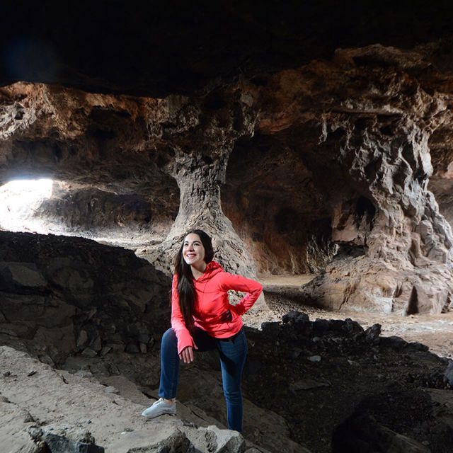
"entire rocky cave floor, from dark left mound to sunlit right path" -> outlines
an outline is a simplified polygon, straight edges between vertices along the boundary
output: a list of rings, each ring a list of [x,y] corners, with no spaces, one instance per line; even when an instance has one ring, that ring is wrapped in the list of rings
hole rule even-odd
[[[215,352],[183,365],[178,415],[147,422],[140,413],[157,397],[169,278],[132,251],[87,239],[1,237],[8,453],[84,451],[87,442],[87,452],[119,453],[451,451],[452,313],[322,311],[300,303],[312,275],[260,276],[268,309],[243,317],[243,437],[219,431]]]

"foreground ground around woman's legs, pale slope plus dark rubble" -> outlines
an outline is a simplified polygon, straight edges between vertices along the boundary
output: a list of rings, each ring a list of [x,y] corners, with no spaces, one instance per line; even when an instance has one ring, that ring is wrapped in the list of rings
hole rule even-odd
[[[450,451],[447,360],[425,345],[380,336],[377,325],[364,331],[355,321],[310,321],[297,312],[247,333],[247,444],[229,431],[207,428],[225,423],[214,353],[183,366],[176,417],[140,417],[156,397],[158,346],[146,355],[74,355],[65,370],[3,347],[1,437],[13,440],[11,452],[44,452],[35,445],[52,434],[78,441],[94,437],[106,451],[130,453],[186,452],[190,445],[202,452]],[[217,449],[203,443],[216,436]],[[28,449],[16,448],[22,445]]]

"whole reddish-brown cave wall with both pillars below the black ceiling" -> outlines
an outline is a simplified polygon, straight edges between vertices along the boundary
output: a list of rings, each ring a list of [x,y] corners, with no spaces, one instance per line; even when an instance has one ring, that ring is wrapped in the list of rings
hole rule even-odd
[[[322,270],[309,303],[440,312],[452,232],[428,182],[448,200],[447,73],[439,41],[338,49],[191,97],[18,83],[1,88],[0,180],[63,181],[43,214],[75,201],[71,231],[149,234],[137,254],[168,274],[198,227],[232,272]]]

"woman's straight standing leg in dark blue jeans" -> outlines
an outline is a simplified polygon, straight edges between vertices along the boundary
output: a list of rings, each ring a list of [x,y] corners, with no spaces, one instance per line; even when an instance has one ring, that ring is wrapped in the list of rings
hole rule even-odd
[[[228,428],[241,432],[243,417],[241,380],[247,357],[247,339],[243,329],[234,340],[218,340],[218,348]]]

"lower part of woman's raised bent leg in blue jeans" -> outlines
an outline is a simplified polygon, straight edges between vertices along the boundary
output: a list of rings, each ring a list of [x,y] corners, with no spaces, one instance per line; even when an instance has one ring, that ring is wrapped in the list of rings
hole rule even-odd
[[[161,343],[161,384],[159,396],[161,398],[176,398],[179,377],[178,339],[172,328],[169,328]]]

